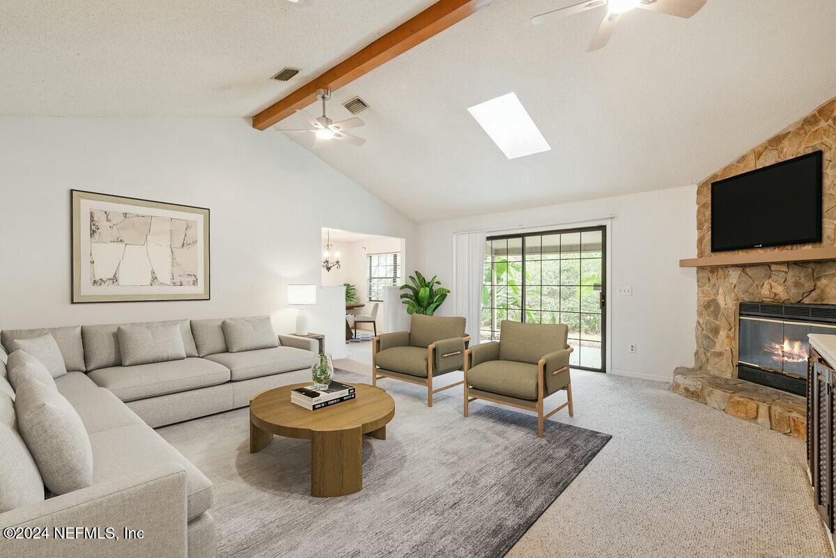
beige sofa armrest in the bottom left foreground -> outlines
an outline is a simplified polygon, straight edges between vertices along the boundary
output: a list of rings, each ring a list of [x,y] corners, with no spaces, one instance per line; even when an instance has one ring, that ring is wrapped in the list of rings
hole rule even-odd
[[[29,534],[49,535],[34,540],[4,538],[0,556],[185,558],[187,520],[186,470],[171,463],[155,471],[125,475],[0,514],[0,528],[28,528]],[[80,530],[76,531],[76,527]],[[84,528],[88,529],[86,535]],[[109,529],[119,540],[107,538]],[[142,538],[126,538],[125,529],[141,530]],[[75,538],[56,538],[56,531]]]

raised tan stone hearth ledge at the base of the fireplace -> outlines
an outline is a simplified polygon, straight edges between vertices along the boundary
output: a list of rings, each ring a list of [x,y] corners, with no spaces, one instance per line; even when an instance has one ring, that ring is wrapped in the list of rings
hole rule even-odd
[[[733,417],[807,439],[807,401],[799,395],[693,368],[676,368],[673,389]]]

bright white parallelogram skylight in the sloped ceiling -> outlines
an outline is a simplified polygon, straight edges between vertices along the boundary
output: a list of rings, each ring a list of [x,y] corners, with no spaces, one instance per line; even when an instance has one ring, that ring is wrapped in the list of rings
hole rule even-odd
[[[513,92],[467,110],[508,159],[552,149]]]

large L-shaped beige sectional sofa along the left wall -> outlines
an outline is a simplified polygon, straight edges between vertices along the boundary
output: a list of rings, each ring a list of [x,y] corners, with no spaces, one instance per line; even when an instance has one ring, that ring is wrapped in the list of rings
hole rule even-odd
[[[145,533],[119,541],[0,538],[0,556],[215,555],[212,483],[153,428],[245,407],[255,393],[287,383],[282,373],[310,367],[316,342],[278,336],[277,347],[230,352],[223,320],[146,325],[160,323],[177,323],[186,358],[122,366],[119,324],[0,332],[8,352],[15,339],[52,334],[67,369],[54,382],[93,451],[92,485],[0,513],[0,528],[100,525]],[[6,358],[0,351],[0,429],[14,436]]]

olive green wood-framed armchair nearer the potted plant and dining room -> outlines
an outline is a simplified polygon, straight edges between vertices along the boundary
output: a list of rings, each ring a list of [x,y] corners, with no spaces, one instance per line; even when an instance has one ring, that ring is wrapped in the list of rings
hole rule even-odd
[[[433,379],[461,370],[470,342],[465,318],[412,315],[408,332],[383,333],[371,343],[371,384],[392,378],[426,386],[426,406],[432,394],[455,388],[462,382],[432,388]]]

